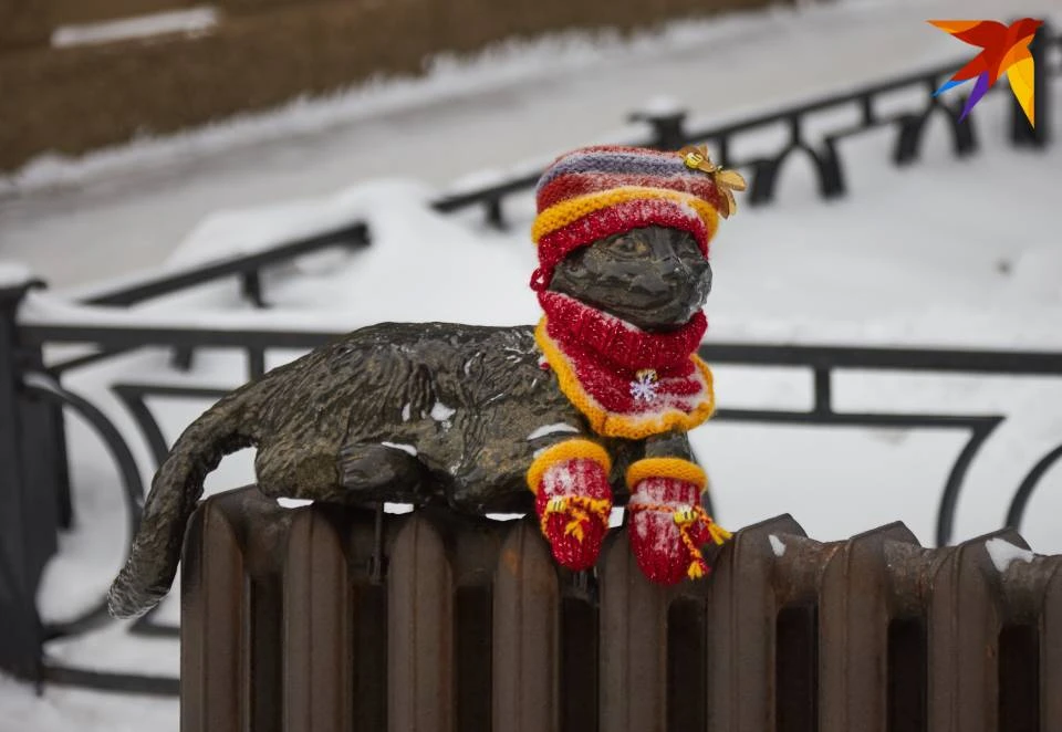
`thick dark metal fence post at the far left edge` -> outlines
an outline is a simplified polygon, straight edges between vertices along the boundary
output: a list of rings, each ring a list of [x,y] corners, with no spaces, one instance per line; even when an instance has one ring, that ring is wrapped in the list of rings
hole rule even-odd
[[[35,536],[41,529],[40,502],[27,490],[31,487],[23,464],[23,354],[15,325],[19,305],[33,285],[21,274],[0,281],[0,668],[39,682],[41,623],[34,598],[48,557],[40,556]],[[50,516],[52,526],[55,517]]]

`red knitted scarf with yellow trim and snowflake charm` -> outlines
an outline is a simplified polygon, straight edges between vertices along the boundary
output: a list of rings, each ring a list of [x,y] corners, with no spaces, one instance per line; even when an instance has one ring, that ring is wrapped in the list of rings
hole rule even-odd
[[[693,429],[715,408],[711,372],[697,355],[704,313],[648,333],[568,295],[542,291],[535,341],[561,391],[598,435],[637,440]]]

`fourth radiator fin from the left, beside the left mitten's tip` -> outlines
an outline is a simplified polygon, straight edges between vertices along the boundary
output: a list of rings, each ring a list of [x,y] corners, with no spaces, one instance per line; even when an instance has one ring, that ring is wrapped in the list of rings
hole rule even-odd
[[[561,593],[533,524],[521,521],[501,547],[493,610],[493,729],[558,732]]]

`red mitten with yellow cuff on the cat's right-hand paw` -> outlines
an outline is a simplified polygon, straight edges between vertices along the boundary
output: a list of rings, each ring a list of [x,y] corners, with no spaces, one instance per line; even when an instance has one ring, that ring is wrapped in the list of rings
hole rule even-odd
[[[646,458],[627,470],[631,547],[643,574],[660,585],[708,574],[700,547],[730,533],[700,505],[705,471],[677,458]]]

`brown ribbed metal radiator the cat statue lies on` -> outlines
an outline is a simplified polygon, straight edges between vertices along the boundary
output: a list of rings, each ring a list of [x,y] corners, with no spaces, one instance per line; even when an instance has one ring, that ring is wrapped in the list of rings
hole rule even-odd
[[[625,530],[559,571],[532,521],[208,499],[185,545],[181,729],[1062,729],[1062,556],[903,524],[745,529],[662,589]]]

